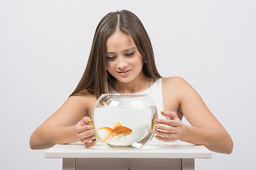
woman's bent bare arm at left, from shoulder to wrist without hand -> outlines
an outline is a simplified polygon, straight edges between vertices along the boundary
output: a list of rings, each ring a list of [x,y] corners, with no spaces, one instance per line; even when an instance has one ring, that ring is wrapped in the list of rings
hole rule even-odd
[[[88,115],[88,106],[93,102],[95,98],[92,96],[70,96],[58,111],[33,132],[30,139],[31,149],[46,149],[55,144],[80,141],[75,132],[75,125]]]

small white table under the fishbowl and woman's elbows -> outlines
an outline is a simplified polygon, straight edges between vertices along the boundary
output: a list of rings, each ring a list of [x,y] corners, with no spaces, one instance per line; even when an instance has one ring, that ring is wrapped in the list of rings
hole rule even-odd
[[[46,158],[62,158],[63,170],[151,170],[195,169],[195,159],[209,159],[204,146],[184,142],[150,142],[140,149],[110,149],[97,143],[85,148],[82,143],[55,145]]]

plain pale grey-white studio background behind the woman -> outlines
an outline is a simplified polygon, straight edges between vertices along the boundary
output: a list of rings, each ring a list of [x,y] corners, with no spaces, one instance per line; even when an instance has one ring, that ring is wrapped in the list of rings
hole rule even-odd
[[[255,1],[0,1],[0,169],[61,169],[29,137],[73,92],[110,11],[144,23],[164,77],[186,79],[233,137],[233,153],[196,169],[256,166]]]

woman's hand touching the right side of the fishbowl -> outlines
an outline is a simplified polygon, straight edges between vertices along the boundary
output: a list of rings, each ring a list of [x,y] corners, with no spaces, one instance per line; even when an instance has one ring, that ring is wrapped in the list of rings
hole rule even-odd
[[[156,139],[162,141],[176,141],[181,138],[183,132],[183,123],[175,112],[161,111],[166,119],[156,120]]]

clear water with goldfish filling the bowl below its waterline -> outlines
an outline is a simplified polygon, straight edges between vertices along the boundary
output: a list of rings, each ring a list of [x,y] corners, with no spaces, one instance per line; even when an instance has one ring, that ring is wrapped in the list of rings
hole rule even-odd
[[[154,136],[155,106],[95,107],[93,126],[97,140],[107,147],[143,147]]]

